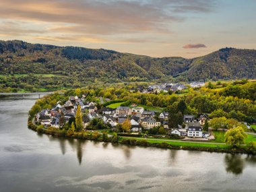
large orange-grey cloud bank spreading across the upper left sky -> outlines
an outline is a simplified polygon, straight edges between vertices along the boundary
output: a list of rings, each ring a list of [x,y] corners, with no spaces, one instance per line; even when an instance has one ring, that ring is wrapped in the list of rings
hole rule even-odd
[[[177,12],[207,12],[214,8],[212,2],[0,0],[0,17],[57,24],[59,32],[102,35],[168,33],[170,24],[185,20],[185,15]]]

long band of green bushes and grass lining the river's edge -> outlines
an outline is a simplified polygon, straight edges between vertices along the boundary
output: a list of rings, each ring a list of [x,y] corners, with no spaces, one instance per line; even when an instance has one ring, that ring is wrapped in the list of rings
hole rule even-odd
[[[121,137],[117,135],[117,133],[114,133],[113,135],[108,135],[108,133],[106,132],[100,133],[98,131],[76,132],[70,129],[66,131],[65,129],[61,130],[55,127],[45,128],[33,123],[33,119],[31,118],[28,119],[28,128],[34,131],[37,131],[38,133],[52,135],[53,137],[67,137],[67,138],[75,138],[75,139],[103,141],[103,142],[110,142],[110,143],[121,143],[127,146],[155,147],[155,148],[165,148],[170,150],[195,150],[195,151],[203,151],[203,152],[222,152],[222,153],[224,152],[224,153],[230,153],[230,154],[256,154],[256,150],[254,146],[238,146],[236,148],[232,148],[232,146],[228,146],[228,145],[220,145],[220,146],[212,145],[211,146],[211,144],[209,144],[209,146],[205,146],[205,145],[193,146],[193,143],[191,143],[191,146],[189,146],[188,141],[183,142],[183,143],[186,143],[185,145],[177,144],[177,143],[171,144],[166,140],[160,141],[159,139],[154,140],[154,139]]]

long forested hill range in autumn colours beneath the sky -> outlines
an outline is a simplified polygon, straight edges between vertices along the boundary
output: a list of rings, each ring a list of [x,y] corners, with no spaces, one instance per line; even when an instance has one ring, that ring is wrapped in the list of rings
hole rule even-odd
[[[95,81],[172,78],[183,81],[255,79],[256,51],[226,48],[195,59],[152,58],[105,49],[0,41],[0,78],[1,84],[10,87],[81,86]]]

